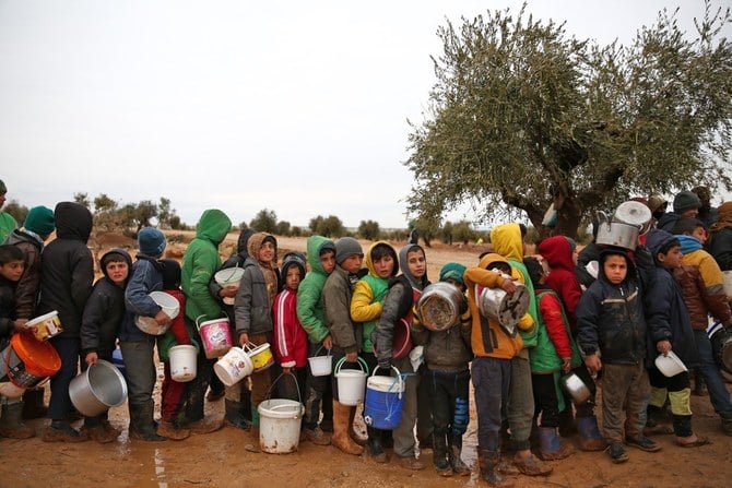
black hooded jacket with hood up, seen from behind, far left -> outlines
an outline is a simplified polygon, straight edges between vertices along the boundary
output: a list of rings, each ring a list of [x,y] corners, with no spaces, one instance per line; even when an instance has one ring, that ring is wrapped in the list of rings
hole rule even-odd
[[[94,258],[86,247],[92,234],[92,213],[74,202],[61,202],[54,211],[56,239],[40,254],[40,301],[37,314],[59,313],[59,337],[79,337],[84,307],[94,284]]]

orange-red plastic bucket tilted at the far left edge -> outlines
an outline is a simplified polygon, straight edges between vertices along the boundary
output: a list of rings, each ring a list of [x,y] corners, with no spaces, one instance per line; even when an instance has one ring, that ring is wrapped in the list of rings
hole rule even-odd
[[[33,388],[61,369],[61,357],[47,342],[36,341],[29,332],[13,334],[2,352],[0,381]]]

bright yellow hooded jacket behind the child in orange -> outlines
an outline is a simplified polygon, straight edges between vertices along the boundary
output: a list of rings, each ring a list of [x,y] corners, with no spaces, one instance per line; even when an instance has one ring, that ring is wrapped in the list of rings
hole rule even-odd
[[[511,269],[519,271],[518,281],[529,288],[529,316],[533,319],[534,326],[520,329],[523,347],[533,347],[536,345],[536,321],[539,319],[536,310],[536,297],[534,287],[531,284],[529,271],[523,265],[523,240],[521,238],[521,228],[518,224],[503,224],[491,230],[491,243],[497,254],[510,264]]]

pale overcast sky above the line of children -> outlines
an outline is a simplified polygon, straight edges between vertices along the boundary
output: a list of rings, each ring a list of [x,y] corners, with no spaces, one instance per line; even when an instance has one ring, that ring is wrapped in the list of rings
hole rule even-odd
[[[170,199],[194,224],[270,209],[405,227],[408,119],[435,82],[436,31],[521,1],[0,0],[0,179],[9,200]],[[729,4],[729,2],[718,2]],[[568,34],[629,44],[664,7],[533,1]],[[453,219],[468,217],[460,212]]]

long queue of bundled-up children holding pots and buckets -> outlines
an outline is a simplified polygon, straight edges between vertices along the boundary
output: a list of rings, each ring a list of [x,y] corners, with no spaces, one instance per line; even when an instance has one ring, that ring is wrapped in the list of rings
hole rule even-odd
[[[536,255],[526,255],[526,227],[495,227],[491,252],[440,270],[439,281],[461,297],[459,313],[444,330],[426,328],[420,314],[430,282],[425,249],[415,241],[399,250],[376,241],[364,252],[352,237],[333,242],[310,236],[306,254],[286,253],[278,265],[275,237],[245,229],[237,253],[222,263],[217,249],[232,222],[219,210],[206,210],[181,263],[163,259],[165,235],[145,227],[134,260],[123,249],[106,252],[94,283],[88,210],[72,202],[55,211],[34,207],[0,245],[0,350],[29,319],[58,311],[63,332],[49,341],[61,367],[50,380],[50,421],[43,433],[49,442],[92,438],[106,443],[120,435],[106,414],[72,427],[78,414],[69,395],[80,368],[111,361],[119,346],[129,435],[142,441],[182,440],[221,428],[221,421],[203,415],[209,388],[225,396],[228,426],[258,428],[257,407],[276,391],[305,405],[303,438],[314,444],[365,453],[377,463],[389,462],[391,451],[406,469],[424,469],[421,454],[432,449],[438,475],[465,476],[471,469],[461,456],[462,437],[472,381],[479,469],[492,486],[505,485],[510,474],[550,474],[547,461],[572,454],[567,438],[575,431],[579,449],[606,450],[613,463],[628,459],[627,445],[660,450],[652,439],[658,433],[674,435],[680,447],[705,445],[708,439],[692,427],[689,372],[665,377],[653,359],[675,353],[695,382],[707,385],[722,430],[732,435],[730,394],[706,332],[710,317],[732,326],[722,276],[732,261],[732,203],[720,205],[705,224],[697,218],[704,205],[695,192],[681,192],[668,214],[659,209],[663,199],[648,202],[659,228],[634,250],[591,243],[578,257],[572,239],[553,236],[539,242]],[[45,246],[54,230],[56,238]],[[594,271],[587,265],[591,261]],[[238,285],[220,285],[215,273],[232,267],[243,269]],[[511,295],[519,286],[528,288],[529,306],[516,323],[482,311],[482,288]],[[175,319],[151,298],[156,290],[178,300],[181,312]],[[229,319],[235,344],[269,343],[276,362],[225,390],[215,381],[215,359],[205,356],[197,326],[222,317]],[[140,318],[167,331],[146,333],[137,324]],[[170,377],[169,350],[176,345],[198,350],[191,382]],[[154,418],[155,354],[164,362],[160,421]],[[358,433],[357,408],[340,401],[335,377],[315,376],[308,365],[308,357],[327,354],[345,369],[399,371],[404,391],[394,429],[366,420],[367,437]],[[572,373],[588,389],[577,403],[559,388]],[[594,412],[600,383],[601,425]],[[23,398],[36,403],[37,391],[0,390],[0,436],[32,437],[22,421]],[[43,402],[43,389],[40,395]],[[428,425],[428,438],[415,435],[418,421]],[[503,456],[507,451],[513,452],[510,460]]]

